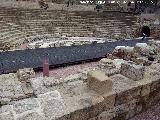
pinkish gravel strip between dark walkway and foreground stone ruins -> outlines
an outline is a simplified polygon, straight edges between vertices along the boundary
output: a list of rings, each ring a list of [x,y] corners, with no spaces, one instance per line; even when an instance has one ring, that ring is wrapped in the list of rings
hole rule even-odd
[[[72,65],[68,67],[61,67],[57,69],[51,69],[49,74],[50,76],[53,76],[55,78],[65,78],[71,74],[78,73],[79,70],[88,68],[88,67],[94,67],[98,64],[98,62],[91,62],[91,63],[85,63],[85,64],[79,64],[79,65]],[[36,76],[43,76],[43,72],[37,72]]]

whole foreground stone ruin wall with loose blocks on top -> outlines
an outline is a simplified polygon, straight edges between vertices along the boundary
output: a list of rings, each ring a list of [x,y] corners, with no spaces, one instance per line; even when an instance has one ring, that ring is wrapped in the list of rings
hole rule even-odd
[[[160,100],[159,45],[116,47],[64,79],[35,77],[30,68],[0,75],[0,120],[127,120]]]

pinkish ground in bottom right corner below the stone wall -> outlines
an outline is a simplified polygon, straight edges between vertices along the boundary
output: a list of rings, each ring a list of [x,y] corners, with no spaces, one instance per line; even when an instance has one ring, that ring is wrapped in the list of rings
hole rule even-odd
[[[160,102],[130,120],[160,120]]]

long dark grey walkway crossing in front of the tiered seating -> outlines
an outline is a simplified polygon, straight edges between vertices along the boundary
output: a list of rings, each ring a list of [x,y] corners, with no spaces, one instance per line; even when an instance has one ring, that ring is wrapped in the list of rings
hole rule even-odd
[[[0,74],[17,71],[20,68],[41,68],[45,58],[49,59],[50,65],[102,58],[107,53],[111,53],[116,46],[134,46],[138,42],[146,41],[124,40],[102,44],[1,52]]]

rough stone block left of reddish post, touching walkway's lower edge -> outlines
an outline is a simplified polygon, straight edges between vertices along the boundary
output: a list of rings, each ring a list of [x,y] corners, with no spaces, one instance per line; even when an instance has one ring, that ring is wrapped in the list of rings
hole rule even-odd
[[[17,71],[17,77],[20,81],[28,81],[29,78],[32,78],[34,76],[35,72],[33,68],[19,69]]]

